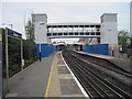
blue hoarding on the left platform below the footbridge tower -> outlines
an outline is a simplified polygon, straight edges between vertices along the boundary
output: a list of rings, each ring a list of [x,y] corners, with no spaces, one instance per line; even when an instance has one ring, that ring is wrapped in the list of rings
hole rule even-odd
[[[40,48],[41,48],[42,57],[48,57],[56,51],[56,46],[54,46],[53,44],[36,44],[36,47],[37,47],[37,56],[40,56]]]

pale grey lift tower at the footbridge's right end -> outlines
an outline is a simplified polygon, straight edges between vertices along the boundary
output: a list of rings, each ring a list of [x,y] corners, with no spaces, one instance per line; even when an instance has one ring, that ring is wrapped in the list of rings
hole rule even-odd
[[[101,15],[101,44],[118,44],[117,13]]]

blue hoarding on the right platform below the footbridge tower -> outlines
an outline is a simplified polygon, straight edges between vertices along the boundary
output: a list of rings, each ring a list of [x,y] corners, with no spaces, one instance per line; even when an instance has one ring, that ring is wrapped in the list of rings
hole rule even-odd
[[[97,44],[97,45],[84,45],[84,52],[92,54],[109,55],[108,44]]]

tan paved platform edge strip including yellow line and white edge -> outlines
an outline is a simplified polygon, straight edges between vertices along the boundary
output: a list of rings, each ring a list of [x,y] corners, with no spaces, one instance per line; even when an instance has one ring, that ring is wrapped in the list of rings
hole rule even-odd
[[[54,57],[45,97],[85,97],[82,87],[67,67],[61,52]]]

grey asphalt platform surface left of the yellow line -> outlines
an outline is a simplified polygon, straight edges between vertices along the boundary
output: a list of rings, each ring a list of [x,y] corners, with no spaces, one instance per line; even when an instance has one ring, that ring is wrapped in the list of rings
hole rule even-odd
[[[54,55],[35,62],[10,78],[7,97],[44,97]]]

